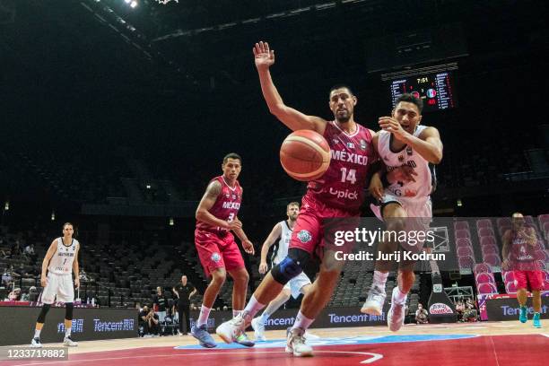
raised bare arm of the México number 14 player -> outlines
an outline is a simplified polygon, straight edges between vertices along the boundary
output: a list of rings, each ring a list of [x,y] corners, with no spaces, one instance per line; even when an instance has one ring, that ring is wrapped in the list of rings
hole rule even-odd
[[[274,65],[274,50],[267,42],[260,41],[253,48],[261,92],[266,100],[269,111],[292,131],[309,129],[324,134],[326,120],[319,117],[307,116],[299,110],[286,106],[282,97],[274,86],[269,67]]]

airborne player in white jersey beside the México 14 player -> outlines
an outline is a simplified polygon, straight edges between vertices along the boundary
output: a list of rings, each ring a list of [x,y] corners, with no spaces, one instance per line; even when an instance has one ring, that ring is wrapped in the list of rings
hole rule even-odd
[[[370,193],[381,202],[380,215],[387,222],[388,231],[426,231],[431,222],[432,179],[429,164],[442,159],[442,142],[435,127],[420,126],[423,101],[412,94],[396,100],[391,117],[379,118],[381,130],[373,144],[385,173],[376,172],[370,181]],[[403,220],[404,219],[404,220]],[[414,244],[414,245],[412,245]],[[423,241],[379,243],[379,252],[403,250],[419,252]],[[377,257],[377,256],[376,256]],[[379,315],[385,302],[385,283],[392,261],[376,261],[374,279],[361,311]],[[414,261],[398,263],[398,286],[393,289],[388,327],[397,331],[404,324],[405,301],[414,283]]]

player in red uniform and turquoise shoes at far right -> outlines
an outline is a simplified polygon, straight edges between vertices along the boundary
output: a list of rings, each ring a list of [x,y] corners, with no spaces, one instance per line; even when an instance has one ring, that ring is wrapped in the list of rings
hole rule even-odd
[[[544,290],[544,274],[536,261],[536,231],[524,224],[522,213],[513,213],[512,228],[503,234],[501,255],[503,269],[513,271],[517,281],[517,300],[520,305],[518,320],[526,323],[527,289],[530,283],[532,304],[534,305],[534,327],[541,327],[541,292]]]

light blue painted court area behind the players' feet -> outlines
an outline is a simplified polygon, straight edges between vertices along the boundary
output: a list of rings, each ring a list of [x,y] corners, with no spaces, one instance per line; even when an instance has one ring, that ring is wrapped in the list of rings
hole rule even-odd
[[[315,345],[348,345],[348,344],[391,344],[404,342],[426,342],[426,341],[449,341],[455,339],[474,338],[477,335],[383,335],[383,336],[350,336],[350,337],[326,337],[319,339],[311,339],[307,343]],[[285,339],[274,339],[266,342],[257,342],[253,348],[276,348],[284,347]],[[204,350],[205,348],[198,345],[179,345],[174,347],[179,350]],[[217,347],[212,350],[226,350],[248,348],[240,344],[225,344],[218,343]]]

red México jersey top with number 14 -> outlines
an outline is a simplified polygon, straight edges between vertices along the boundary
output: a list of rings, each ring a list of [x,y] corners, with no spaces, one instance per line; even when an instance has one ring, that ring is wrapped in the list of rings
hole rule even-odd
[[[335,121],[327,123],[324,138],[330,146],[331,161],[322,177],[309,182],[307,195],[323,204],[345,211],[358,211],[364,200],[366,176],[377,153],[370,130],[356,124],[349,135]]]

